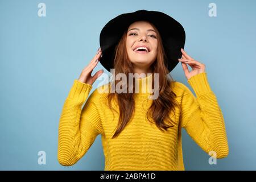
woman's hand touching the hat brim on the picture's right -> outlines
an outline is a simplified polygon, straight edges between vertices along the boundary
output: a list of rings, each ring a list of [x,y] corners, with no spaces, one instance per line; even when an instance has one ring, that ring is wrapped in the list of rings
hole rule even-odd
[[[178,60],[181,61],[182,68],[188,80],[192,76],[205,72],[205,65],[203,63],[200,63],[199,61],[194,60],[191,56],[189,56],[184,51],[183,48],[181,48],[181,52],[182,52],[183,59],[178,59]],[[192,68],[191,72],[189,72],[187,64]]]

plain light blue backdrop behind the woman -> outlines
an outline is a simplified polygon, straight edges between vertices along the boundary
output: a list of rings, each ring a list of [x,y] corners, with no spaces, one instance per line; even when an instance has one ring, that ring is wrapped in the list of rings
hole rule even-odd
[[[38,16],[40,2],[46,3],[46,17]],[[217,5],[216,17],[208,15],[211,2]],[[100,47],[102,27],[119,14],[140,9],[162,11],[183,25],[184,49],[206,65],[209,84],[224,114],[228,157],[210,165],[209,156],[183,130],[185,169],[256,169],[253,0],[1,0],[0,169],[104,170],[100,135],[75,166],[58,163],[59,118],[73,81]],[[104,69],[101,64],[92,74],[99,69]],[[181,64],[171,76],[189,86]],[[99,82],[94,82],[92,91]],[[38,164],[39,151],[46,152],[46,165]]]

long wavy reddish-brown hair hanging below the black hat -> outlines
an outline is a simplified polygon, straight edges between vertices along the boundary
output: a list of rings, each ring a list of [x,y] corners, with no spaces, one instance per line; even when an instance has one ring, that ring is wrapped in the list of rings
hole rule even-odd
[[[150,22],[149,22],[150,23]],[[174,111],[175,114],[175,106],[177,106],[180,110],[180,105],[176,102],[175,97],[176,94],[172,91],[172,85],[174,84],[173,78],[170,76],[168,78],[168,69],[166,67],[166,53],[164,52],[162,39],[160,37],[159,31],[156,29],[154,24],[150,23],[156,30],[156,34],[158,37],[158,48],[157,48],[157,56],[154,63],[151,64],[152,71],[152,80],[154,80],[154,73],[159,74],[159,96],[157,99],[153,100],[152,105],[147,111],[147,119],[148,115],[154,120],[155,125],[162,131],[166,131],[169,127],[173,127],[175,121],[169,117],[171,111]],[[133,73],[133,65],[129,60],[126,50],[126,36],[127,30],[123,33],[122,38],[119,40],[119,43],[115,47],[115,57],[114,57],[114,70],[115,73],[124,73],[127,77],[129,73]],[[114,79],[115,80],[115,79]],[[114,81],[115,86],[118,84],[118,81]],[[154,81],[152,82],[154,86]],[[116,88],[116,87],[115,87]],[[128,89],[129,88],[128,86]],[[134,86],[133,86],[134,91]],[[134,114],[135,101],[134,101],[134,93],[108,93],[108,105],[110,109],[115,110],[111,106],[111,101],[113,98],[116,98],[118,107],[119,107],[119,121],[117,125],[117,130],[115,131],[112,138],[117,137],[121,131],[125,128],[126,124],[130,121],[132,115]],[[115,110],[116,111],[116,110]],[[148,119],[150,122],[151,120]],[[168,125],[166,122],[170,123]]]

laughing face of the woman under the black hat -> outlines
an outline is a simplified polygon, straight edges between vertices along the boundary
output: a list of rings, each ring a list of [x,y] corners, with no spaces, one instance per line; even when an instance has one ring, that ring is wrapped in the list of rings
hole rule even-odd
[[[147,50],[136,49],[146,47]],[[149,68],[157,55],[158,39],[150,23],[138,21],[130,24],[127,31],[126,50],[135,67]]]

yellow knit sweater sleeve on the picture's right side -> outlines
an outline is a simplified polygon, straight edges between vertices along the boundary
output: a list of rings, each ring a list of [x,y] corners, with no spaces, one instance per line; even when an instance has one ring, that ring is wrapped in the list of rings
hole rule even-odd
[[[229,147],[224,118],[217,98],[209,86],[207,73],[192,76],[188,83],[196,97],[183,84],[181,127],[207,154],[213,151],[216,152],[216,158],[225,158],[229,154]]]

